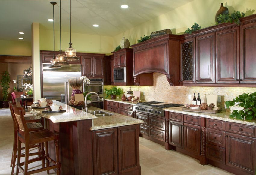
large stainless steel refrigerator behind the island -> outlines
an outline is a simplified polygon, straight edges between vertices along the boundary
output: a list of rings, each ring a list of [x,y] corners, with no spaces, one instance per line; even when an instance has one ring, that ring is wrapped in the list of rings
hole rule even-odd
[[[61,68],[49,68],[48,65],[43,63],[43,97],[68,103],[72,94],[68,80],[81,77],[81,65],[62,65]]]

